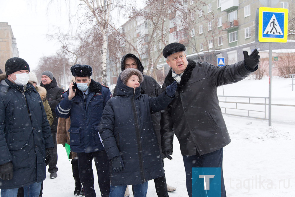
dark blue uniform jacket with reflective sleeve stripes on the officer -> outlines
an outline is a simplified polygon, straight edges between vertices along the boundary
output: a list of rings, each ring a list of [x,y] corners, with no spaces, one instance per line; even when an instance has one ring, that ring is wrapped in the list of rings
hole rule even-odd
[[[60,118],[71,116],[71,151],[90,153],[104,150],[98,132],[104,106],[113,96],[109,88],[91,79],[86,108],[81,90],[76,88],[72,100],[68,99],[68,94],[69,90],[63,93],[64,99],[56,106],[55,113]]]

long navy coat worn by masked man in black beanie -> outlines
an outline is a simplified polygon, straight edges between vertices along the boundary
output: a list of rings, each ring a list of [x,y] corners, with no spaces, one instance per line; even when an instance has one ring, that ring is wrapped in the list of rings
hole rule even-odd
[[[42,100],[34,86],[23,87],[0,76],[0,165],[12,162],[13,178],[1,189],[19,188],[45,179],[45,148],[53,140]]]

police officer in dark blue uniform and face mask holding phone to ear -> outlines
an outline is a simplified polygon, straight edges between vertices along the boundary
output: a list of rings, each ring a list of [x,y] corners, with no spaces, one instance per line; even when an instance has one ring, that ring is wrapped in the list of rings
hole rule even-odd
[[[63,100],[55,108],[60,118],[71,117],[71,151],[78,156],[80,180],[85,196],[96,196],[92,160],[94,159],[102,197],[109,196],[109,158],[99,136],[99,126],[106,102],[113,97],[109,87],[90,78],[92,68],[76,64],[71,67],[76,83],[71,82]]]

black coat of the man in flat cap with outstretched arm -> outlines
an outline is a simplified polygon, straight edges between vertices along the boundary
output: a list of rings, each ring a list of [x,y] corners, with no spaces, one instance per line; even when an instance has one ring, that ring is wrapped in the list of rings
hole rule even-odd
[[[246,68],[244,61],[222,67],[188,61],[176,98],[162,113],[161,135],[163,151],[172,151],[175,133],[181,154],[191,156],[210,153],[230,143],[217,87],[245,79],[252,71]],[[171,74],[170,69],[163,91],[175,81]]]

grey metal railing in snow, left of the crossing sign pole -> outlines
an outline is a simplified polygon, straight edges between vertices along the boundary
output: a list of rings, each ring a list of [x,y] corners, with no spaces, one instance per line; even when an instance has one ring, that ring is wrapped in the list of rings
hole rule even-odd
[[[268,105],[266,100],[268,100],[268,97],[218,96],[218,99],[220,108],[224,109],[224,112],[222,112],[223,114],[268,120],[268,117],[266,117],[266,105]],[[221,103],[227,103],[231,106],[222,106]],[[244,105],[248,106],[243,108]],[[257,105],[262,105],[263,107],[258,110],[256,107]],[[253,109],[250,109],[251,107]],[[243,112],[248,112],[246,113],[248,115],[245,115]]]

